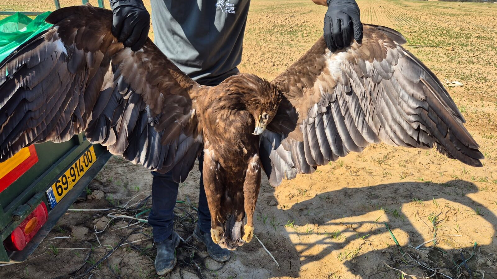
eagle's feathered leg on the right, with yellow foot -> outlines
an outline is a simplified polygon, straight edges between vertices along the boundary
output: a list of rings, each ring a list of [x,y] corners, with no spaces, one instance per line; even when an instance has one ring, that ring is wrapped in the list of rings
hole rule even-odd
[[[254,154],[248,162],[247,174],[244,182],[245,213],[247,214],[247,224],[244,226],[244,236],[242,240],[250,242],[253,236],[253,212],[260,189],[260,161],[259,156]]]

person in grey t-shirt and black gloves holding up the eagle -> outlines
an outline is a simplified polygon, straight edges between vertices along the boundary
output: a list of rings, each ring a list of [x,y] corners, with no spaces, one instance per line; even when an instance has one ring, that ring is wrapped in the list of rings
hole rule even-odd
[[[313,0],[327,6],[324,37],[331,51],[362,40],[360,10],[355,0]],[[110,0],[112,34],[125,47],[139,50],[150,29],[150,14],[142,0]],[[237,74],[250,0],[152,0],[155,44],[180,70],[202,85],[214,86]],[[202,174],[203,154],[198,157]],[[155,268],[166,275],[176,264],[179,236],[173,231],[173,209],[178,183],[172,173],[152,172],[152,210],[149,224],[157,245]],[[225,262],[231,252],[214,243],[209,233],[211,216],[202,175],[199,185],[198,224],[193,233],[209,256]]]

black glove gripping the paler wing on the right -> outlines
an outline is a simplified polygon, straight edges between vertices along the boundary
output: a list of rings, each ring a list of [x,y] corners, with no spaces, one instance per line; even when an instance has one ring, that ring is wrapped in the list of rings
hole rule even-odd
[[[361,13],[357,3],[354,0],[327,0],[327,3],[324,31],[328,48],[331,51],[346,48],[352,43],[352,37],[361,42]]]

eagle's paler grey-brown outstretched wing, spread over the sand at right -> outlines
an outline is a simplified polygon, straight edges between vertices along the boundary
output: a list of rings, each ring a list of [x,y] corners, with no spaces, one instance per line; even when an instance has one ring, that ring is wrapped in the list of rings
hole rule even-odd
[[[283,98],[261,138],[272,185],[370,143],[431,148],[472,166],[483,159],[438,78],[395,30],[364,25],[361,44],[331,53],[321,38],[277,76]]]

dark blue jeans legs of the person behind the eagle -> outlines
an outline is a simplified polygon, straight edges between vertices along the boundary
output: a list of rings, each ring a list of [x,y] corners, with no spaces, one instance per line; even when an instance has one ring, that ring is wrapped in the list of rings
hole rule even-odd
[[[198,157],[198,170],[200,171],[200,191],[198,194],[198,223],[200,230],[210,232],[211,214],[205,197],[202,166],[204,152]],[[161,242],[168,238],[174,226],[174,206],[178,195],[179,183],[172,180],[171,172],[165,174],[153,171],[152,180],[152,211],[149,214],[149,224],[152,226],[154,241]]]

